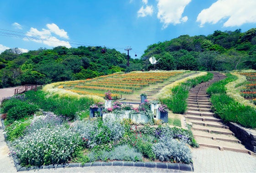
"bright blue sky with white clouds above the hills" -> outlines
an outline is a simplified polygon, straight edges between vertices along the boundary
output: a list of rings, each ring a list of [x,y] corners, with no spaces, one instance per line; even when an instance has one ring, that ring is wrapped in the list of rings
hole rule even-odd
[[[106,46],[140,57],[181,35],[256,27],[256,0],[0,0],[0,52]]]

